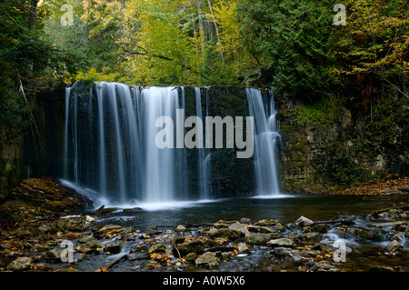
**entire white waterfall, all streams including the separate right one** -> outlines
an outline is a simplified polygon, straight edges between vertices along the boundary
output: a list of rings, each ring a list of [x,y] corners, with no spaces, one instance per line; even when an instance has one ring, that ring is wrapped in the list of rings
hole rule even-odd
[[[209,115],[210,95],[205,105],[195,87],[190,113],[199,119]],[[279,194],[276,169],[277,142],[274,100],[263,103],[259,90],[246,89],[249,113],[254,116],[254,168],[257,195]],[[190,197],[205,200],[211,194],[211,162],[214,150],[197,141],[196,164],[188,164],[185,140],[184,87],[148,87],[98,82],[91,88],[75,85],[65,91],[65,180],[99,193],[103,204],[170,204]],[[180,114],[181,112],[182,115]],[[174,120],[173,147],[156,144],[160,117]],[[182,124],[182,126],[180,125]],[[167,126],[167,123],[164,125]],[[167,139],[166,135],[166,139]],[[189,149],[190,150],[190,149]],[[193,156],[193,155],[189,155]],[[190,158],[190,157],[189,157]],[[214,158],[214,161],[212,160]],[[189,173],[195,169],[197,193],[189,192]],[[196,171],[197,170],[197,171]]]

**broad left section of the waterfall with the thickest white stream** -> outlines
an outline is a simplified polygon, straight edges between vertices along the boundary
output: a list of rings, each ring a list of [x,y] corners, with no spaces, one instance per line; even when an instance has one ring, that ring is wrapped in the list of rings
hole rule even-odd
[[[99,192],[107,203],[187,198],[185,148],[155,145],[156,119],[177,118],[185,109],[183,89],[180,95],[174,86],[140,90],[98,82],[95,94],[81,87],[65,93],[65,179]]]

